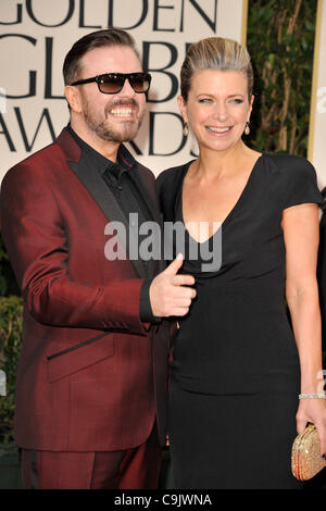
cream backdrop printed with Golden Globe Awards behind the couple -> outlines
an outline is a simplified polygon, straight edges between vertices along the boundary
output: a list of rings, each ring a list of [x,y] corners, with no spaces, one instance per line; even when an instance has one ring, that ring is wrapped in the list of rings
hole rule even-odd
[[[129,32],[152,74],[148,111],[128,148],[155,174],[193,158],[176,101],[185,51],[214,35],[244,42],[247,10],[248,0],[1,0],[0,180],[67,124],[64,57],[102,28]]]

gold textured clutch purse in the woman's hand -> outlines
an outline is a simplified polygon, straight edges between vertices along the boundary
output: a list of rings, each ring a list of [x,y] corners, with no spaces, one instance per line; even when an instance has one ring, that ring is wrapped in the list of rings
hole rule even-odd
[[[324,466],[326,466],[326,460],[321,454],[318,433],[316,427],[310,424],[293,441],[292,474],[299,481],[308,481],[321,472]]]

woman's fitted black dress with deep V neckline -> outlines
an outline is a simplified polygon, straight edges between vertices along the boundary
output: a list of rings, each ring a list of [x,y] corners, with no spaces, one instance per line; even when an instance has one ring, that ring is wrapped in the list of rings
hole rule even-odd
[[[167,223],[183,222],[190,163],[158,177]],[[285,304],[280,223],[284,209],[304,202],[322,202],[314,167],[300,157],[263,153],[213,237],[197,244],[185,230],[183,273],[195,276],[197,297],[173,349],[176,488],[301,487],[290,468],[300,366]]]

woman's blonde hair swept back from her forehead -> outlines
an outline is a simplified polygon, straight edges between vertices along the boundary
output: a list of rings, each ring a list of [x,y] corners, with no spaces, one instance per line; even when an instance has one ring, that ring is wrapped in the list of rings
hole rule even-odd
[[[185,102],[196,71],[221,70],[238,71],[248,79],[248,99],[253,87],[253,71],[250,55],[242,45],[224,37],[209,37],[191,45],[187,51],[180,72],[180,89]]]

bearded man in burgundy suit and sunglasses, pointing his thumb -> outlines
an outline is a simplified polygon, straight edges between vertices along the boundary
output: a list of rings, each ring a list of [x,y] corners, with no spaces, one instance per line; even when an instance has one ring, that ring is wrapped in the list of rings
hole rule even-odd
[[[117,29],[79,39],[63,72],[71,123],[1,187],[24,298],[15,415],[24,485],[155,488],[166,317],[186,314],[196,291],[177,275],[181,260],[165,269],[129,257],[143,239],[129,219],[160,223],[154,176],[122,144],[137,134],[150,76]]]

